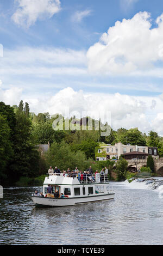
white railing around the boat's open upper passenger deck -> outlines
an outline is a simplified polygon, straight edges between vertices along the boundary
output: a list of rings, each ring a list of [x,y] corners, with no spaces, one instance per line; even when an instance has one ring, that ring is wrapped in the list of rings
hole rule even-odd
[[[90,183],[108,183],[108,174],[101,173],[47,173],[47,175],[57,175],[67,178],[77,178],[80,184],[90,184]]]

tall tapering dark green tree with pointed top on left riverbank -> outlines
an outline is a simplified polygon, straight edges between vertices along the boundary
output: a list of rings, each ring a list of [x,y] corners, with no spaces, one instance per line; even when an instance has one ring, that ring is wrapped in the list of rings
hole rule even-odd
[[[21,101],[16,112],[14,156],[10,164],[10,177],[13,180],[17,180],[20,176],[35,176],[39,172],[39,152],[33,144],[31,129],[32,123]]]

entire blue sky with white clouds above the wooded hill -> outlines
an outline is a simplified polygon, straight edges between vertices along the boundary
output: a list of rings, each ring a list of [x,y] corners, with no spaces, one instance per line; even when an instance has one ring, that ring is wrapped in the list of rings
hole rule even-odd
[[[163,136],[162,0],[1,0],[0,44],[0,101]]]

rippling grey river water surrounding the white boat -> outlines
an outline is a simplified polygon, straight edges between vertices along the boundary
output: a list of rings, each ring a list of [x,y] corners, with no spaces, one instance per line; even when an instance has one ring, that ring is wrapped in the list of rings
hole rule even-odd
[[[42,209],[30,198],[36,187],[5,188],[0,199],[0,244],[162,245],[159,191],[127,182],[110,184],[116,193],[112,201]]]

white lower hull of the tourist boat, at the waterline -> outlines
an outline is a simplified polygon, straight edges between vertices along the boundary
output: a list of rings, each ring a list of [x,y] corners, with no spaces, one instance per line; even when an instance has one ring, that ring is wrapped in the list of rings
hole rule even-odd
[[[48,197],[32,197],[32,200],[36,206],[70,206],[77,204],[85,204],[91,202],[97,202],[102,200],[111,200],[114,199],[115,193],[108,193],[97,196],[88,196],[88,197],[76,197],[76,198],[48,198]]]

